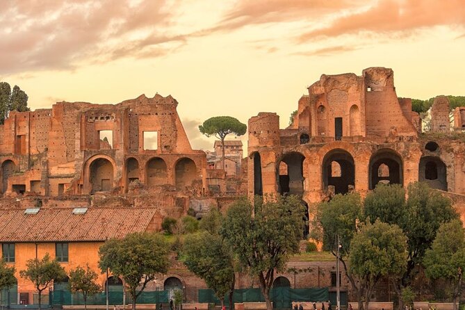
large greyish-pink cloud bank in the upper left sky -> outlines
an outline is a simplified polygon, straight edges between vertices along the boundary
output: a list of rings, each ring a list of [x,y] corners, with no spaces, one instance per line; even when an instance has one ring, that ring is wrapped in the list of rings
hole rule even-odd
[[[168,0],[6,1],[0,13],[0,74],[72,70],[80,61],[158,56],[185,42],[166,33]]]

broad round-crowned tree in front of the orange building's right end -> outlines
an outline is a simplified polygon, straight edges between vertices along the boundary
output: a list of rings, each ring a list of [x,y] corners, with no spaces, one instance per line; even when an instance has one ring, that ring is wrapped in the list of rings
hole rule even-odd
[[[136,309],[139,295],[155,279],[158,272],[168,270],[169,245],[163,236],[142,232],[128,234],[123,239],[109,239],[99,249],[99,267],[122,277]]]

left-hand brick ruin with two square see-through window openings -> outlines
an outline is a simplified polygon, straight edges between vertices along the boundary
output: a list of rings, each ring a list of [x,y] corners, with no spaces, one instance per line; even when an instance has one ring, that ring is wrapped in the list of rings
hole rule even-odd
[[[95,195],[184,208],[204,194],[206,155],[190,147],[177,104],[157,94],[11,112],[0,125],[1,206],[90,206]]]

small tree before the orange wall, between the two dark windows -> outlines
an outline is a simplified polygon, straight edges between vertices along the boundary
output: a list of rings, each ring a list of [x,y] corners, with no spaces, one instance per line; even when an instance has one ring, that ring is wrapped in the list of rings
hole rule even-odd
[[[48,253],[42,259],[29,259],[26,262],[26,270],[19,271],[19,275],[31,281],[39,292],[39,309],[41,309],[42,291],[49,287],[52,281],[67,277],[65,269],[56,259],[50,259]]]

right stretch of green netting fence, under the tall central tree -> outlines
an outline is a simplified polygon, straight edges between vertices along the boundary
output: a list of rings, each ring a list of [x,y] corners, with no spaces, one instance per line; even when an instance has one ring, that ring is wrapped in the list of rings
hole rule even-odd
[[[329,300],[328,288],[289,288],[279,287],[272,288],[270,299],[273,302],[273,308],[291,309],[292,302],[313,302]],[[228,296],[225,296],[227,304]],[[220,304],[220,300],[215,296],[213,290],[199,290],[199,302]],[[233,302],[265,302],[265,298],[259,288],[243,288],[234,290]]]

